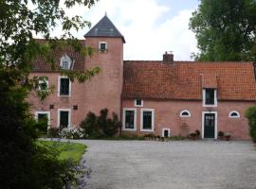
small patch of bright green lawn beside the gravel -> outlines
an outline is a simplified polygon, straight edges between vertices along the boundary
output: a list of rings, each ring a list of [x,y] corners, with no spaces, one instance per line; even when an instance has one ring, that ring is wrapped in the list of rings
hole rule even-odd
[[[80,162],[86,147],[82,144],[70,142],[55,142],[55,141],[38,141],[39,145],[57,148],[61,153],[59,160],[73,159],[75,162]]]

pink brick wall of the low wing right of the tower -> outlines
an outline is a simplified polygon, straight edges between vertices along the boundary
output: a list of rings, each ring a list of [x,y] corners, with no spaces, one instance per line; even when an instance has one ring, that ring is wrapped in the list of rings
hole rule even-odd
[[[144,100],[142,109],[155,110],[155,134],[162,135],[162,129],[171,129],[171,135],[188,135],[191,131],[202,131],[202,112],[217,112],[217,129],[231,133],[235,139],[249,139],[247,118],[244,113],[252,102],[218,102],[216,108],[203,108],[199,101]],[[140,131],[140,109],[134,106],[134,100],[125,99],[123,108],[137,108],[137,131],[125,131],[143,135]],[[191,117],[180,117],[182,110],[191,112]],[[240,112],[240,118],[229,118],[229,112]],[[185,124],[184,124],[185,123]]]

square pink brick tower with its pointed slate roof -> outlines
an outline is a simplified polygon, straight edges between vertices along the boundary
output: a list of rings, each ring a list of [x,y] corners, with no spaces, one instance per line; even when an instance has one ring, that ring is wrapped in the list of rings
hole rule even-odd
[[[95,50],[91,58],[86,58],[85,68],[101,68],[98,76],[85,83],[84,112],[99,113],[107,108],[109,113],[116,112],[120,118],[124,37],[105,15],[84,38],[86,45]]]

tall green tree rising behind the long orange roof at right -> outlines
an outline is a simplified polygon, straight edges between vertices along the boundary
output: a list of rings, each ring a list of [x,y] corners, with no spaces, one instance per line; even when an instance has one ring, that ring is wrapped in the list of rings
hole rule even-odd
[[[256,60],[255,0],[201,0],[190,28],[199,49],[195,60]]]

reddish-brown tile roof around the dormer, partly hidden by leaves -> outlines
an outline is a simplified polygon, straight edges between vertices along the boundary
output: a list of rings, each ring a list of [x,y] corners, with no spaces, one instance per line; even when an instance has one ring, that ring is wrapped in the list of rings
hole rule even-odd
[[[36,40],[40,43],[45,43],[44,39]],[[81,40],[81,43],[85,45],[85,40]],[[75,52],[71,46],[64,46],[62,50],[55,50],[53,54],[54,61],[56,62],[56,68],[60,66],[61,58],[66,54],[72,60],[75,60],[73,67],[74,71],[84,70],[85,57],[80,53]],[[47,63],[42,57],[38,57],[32,64],[32,72],[53,72],[53,70],[51,69],[50,63]]]

